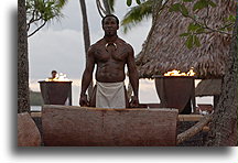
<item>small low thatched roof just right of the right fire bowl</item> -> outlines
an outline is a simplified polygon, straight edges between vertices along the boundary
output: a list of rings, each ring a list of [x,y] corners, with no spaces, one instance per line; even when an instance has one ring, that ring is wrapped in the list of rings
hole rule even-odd
[[[196,89],[195,96],[214,96],[221,93],[221,79],[204,79]]]

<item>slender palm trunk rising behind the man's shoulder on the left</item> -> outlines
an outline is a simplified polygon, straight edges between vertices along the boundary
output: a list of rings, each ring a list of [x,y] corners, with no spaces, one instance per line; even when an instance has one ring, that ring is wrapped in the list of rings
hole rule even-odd
[[[87,51],[90,46],[90,34],[89,34],[89,28],[88,28],[88,21],[87,21],[87,9],[85,4],[85,0],[79,0],[80,8],[82,8],[82,15],[83,15],[83,33],[84,33],[84,43],[85,43],[85,55],[87,59]],[[93,80],[88,87],[88,96],[91,97],[93,94]]]

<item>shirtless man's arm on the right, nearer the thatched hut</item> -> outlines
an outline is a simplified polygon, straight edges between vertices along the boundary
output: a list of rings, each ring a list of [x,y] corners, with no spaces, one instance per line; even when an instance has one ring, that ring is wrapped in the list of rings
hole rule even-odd
[[[138,97],[138,89],[139,89],[139,77],[138,70],[134,62],[134,52],[131,45],[129,45],[129,55],[127,59],[127,66],[129,72],[129,80],[133,89],[133,98],[130,102],[131,107],[139,106],[139,97]]]

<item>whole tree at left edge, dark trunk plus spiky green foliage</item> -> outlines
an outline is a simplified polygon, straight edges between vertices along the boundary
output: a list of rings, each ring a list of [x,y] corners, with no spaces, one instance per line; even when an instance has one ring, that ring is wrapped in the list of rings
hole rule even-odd
[[[18,3],[18,112],[30,112],[28,31],[32,23],[45,23],[61,14],[66,0],[19,0]]]

